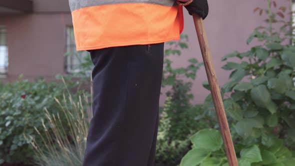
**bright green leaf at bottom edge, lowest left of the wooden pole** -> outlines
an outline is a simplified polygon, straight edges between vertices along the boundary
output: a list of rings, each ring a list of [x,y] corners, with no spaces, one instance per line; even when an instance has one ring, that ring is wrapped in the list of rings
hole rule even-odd
[[[181,159],[180,166],[195,166],[201,163],[210,152],[207,149],[191,149]]]

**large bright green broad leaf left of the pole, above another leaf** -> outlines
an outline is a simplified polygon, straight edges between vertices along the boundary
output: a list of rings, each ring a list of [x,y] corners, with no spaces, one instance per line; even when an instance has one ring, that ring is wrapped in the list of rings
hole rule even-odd
[[[201,129],[190,137],[194,147],[216,151],[222,146],[222,137],[216,129]]]

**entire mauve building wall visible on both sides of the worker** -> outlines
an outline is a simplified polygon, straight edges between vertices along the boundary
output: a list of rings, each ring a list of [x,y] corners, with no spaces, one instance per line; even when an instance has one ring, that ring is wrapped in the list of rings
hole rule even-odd
[[[253,13],[253,8],[266,7],[266,0],[208,0],[209,15],[205,19],[205,29],[216,68],[219,83],[227,81],[229,73],[221,69],[223,55],[233,50],[244,51],[246,39],[253,28],[261,25],[265,17]],[[285,0],[279,4],[288,4]],[[53,80],[57,73],[64,73],[65,27],[71,24],[68,0],[33,0],[34,12],[27,15],[0,15],[0,24],[7,27],[8,76],[5,80],[15,80],[21,73],[32,80],[44,76]],[[183,66],[190,57],[201,60],[195,29],[191,16],[185,12],[183,33],[189,35],[189,49],[182,56],[173,57],[174,66]],[[176,62],[177,61],[177,62]],[[201,85],[206,80],[204,67],[193,82],[194,102],[200,103],[209,93]],[[161,97],[161,103],[164,96]]]

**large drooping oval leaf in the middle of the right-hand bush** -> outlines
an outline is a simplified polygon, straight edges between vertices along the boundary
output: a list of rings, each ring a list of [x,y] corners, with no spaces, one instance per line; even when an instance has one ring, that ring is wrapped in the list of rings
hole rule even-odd
[[[276,105],[271,100],[271,96],[266,86],[260,84],[251,89],[251,98],[257,106],[267,108],[271,113],[276,112]]]

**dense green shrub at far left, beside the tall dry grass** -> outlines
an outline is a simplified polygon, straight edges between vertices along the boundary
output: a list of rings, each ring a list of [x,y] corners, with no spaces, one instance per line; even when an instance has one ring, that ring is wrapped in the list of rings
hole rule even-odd
[[[40,142],[34,127],[44,133],[42,123],[46,107],[57,114],[60,107],[54,98],[62,98],[66,88],[63,83],[17,80],[2,84],[0,88],[0,163],[28,163],[32,159],[31,140]],[[61,117],[62,121],[64,117]],[[25,136],[30,139],[25,139]]]

